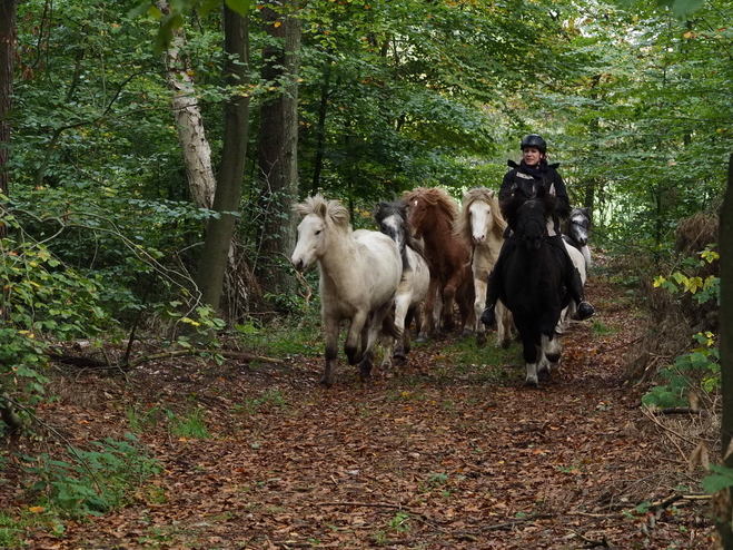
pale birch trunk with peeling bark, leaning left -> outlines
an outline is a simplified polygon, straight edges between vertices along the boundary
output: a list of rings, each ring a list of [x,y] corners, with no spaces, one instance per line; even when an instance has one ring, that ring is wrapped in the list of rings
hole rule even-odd
[[[162,13],[170,13],[168,0],[157,0]],[[204,119],[199,109],[188,59],[181,55],[186,45],[184,29],[174,29],[174,39],[166,51],[166,79],[174,90],[172,110],[181,144],[184,164],[194,204],[199,208],[211,208],[216,179],[211,168],[211,148],[204,131]]]

